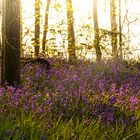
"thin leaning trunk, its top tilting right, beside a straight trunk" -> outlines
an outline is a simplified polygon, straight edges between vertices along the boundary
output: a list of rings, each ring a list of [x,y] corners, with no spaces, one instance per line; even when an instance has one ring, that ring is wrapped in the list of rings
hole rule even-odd
[[[46,37],[48,32],[48,18],[49,18],[49,7],[50,7],[51,0],[47,1],[46,11],[45,11],[45,24],[44,24],[44,31],[43,31],[43,40],[42,40],[42,51],[45,53],[46,49]]]

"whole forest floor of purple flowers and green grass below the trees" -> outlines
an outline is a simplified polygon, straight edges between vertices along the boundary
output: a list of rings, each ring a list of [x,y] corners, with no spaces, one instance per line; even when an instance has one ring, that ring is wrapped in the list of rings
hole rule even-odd
[[[140,139],[140,62],[48,61],[0,88],[0,139]]]

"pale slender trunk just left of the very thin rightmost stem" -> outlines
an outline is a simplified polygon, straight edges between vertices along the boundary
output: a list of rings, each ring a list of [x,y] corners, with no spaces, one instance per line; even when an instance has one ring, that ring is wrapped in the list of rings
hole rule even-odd
[[[116,0],[110,0],[110,21],[111,21],[111,45],[112,55],[117,58],[117,23],[116,23]]]

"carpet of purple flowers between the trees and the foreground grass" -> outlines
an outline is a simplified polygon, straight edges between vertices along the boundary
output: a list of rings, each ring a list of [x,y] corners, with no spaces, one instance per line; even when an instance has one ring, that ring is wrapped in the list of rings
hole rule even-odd
[[[139,69],[118,62],[77,61],[69,65],[63,60],[49,61],[54,65],[50,70],[25,66],[21,70],[22,88],[0,88],[1,114],[13,110],[51,114],[52,119],[101,118],[109,125],[120,120],[128,124],[140,109]]]

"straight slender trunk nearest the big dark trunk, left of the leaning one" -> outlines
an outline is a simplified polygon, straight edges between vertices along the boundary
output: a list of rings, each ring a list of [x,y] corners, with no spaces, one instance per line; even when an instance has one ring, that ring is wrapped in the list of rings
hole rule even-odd
[[[35,56],[40,49],[40,0],[35,0]]]

